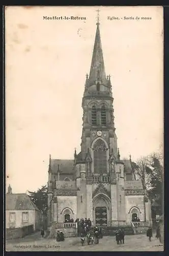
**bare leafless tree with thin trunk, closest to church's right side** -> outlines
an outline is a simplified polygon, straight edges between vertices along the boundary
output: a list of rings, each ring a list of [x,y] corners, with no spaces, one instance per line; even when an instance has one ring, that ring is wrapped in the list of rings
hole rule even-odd
[[[136,163],[133,163],[135,176],[142,182],[144,190],[144,219],[146,221],[146,197],[148,196],[148,189],[150,187],[150,173],[148,157],[140,157]]]

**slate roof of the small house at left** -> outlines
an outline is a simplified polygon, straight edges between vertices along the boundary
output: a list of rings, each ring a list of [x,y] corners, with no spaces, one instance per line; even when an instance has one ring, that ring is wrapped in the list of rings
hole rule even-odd
[[[6,194],[6,210],[38,210],[26,194]]]

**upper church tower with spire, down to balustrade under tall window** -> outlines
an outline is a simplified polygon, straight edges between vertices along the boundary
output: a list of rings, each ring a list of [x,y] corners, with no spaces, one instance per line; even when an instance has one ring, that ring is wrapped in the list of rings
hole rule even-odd
[[[105,74],[99,26],[98,17],[90,75],[86,75],[85,92],[82,98],[81,156],[82,160],[85,160],[90,154],[91,173],[99,173],[101,168],[103,172],[110,172],[108,161],[105,165],[104,160],[108,160],[110,155],[115,159],[118,157],[112,105],[114,98],[110,75]],[[96,143],[93,143],[94,141]],[[97,147],[98,151],[96,151]]]

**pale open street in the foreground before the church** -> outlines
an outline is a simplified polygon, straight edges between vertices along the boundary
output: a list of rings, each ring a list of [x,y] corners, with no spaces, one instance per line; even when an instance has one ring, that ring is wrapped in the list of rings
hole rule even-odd
[[[64,242],[41,238],[35,233],[6,243],[6,251],[163,251],[163,245],[155,239],[149,242],[146,234],[126,236],[125,244],[117,245],[115,237],[103,237],[97,245],[81,246],[79,238],[66,238]]]

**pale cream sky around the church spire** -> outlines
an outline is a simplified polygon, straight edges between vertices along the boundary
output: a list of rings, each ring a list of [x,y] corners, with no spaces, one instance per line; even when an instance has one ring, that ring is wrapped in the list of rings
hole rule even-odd
[[[73,159],[74,148],[80,152],[81,102],[97,9],[6,7],[6,186],[11,184],[13,193],[47,183],[49,154]],[[99,10],[118,147],[121,159],[131,154],[135,161],[163,144],[163,11],[155,6]],[[120,19],[108,18],[113,16]]]

